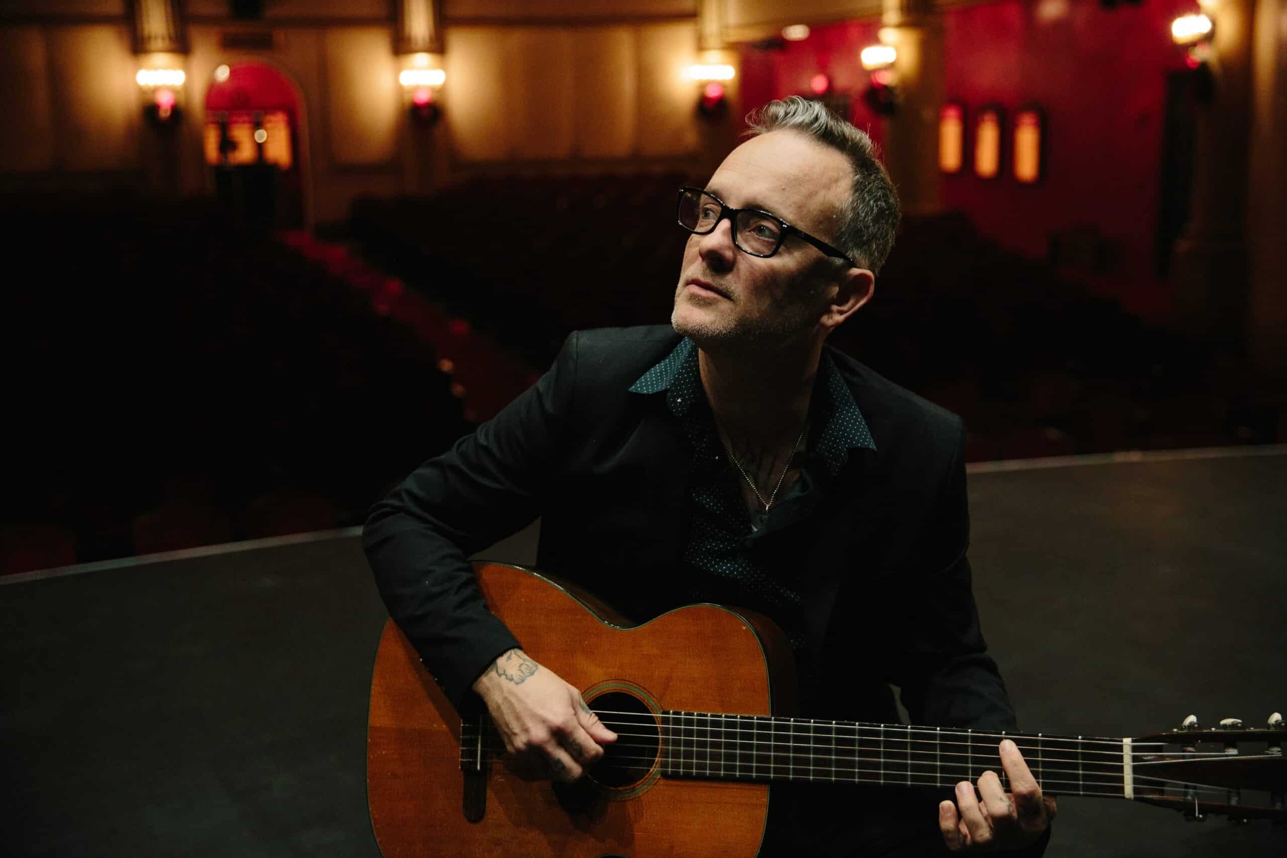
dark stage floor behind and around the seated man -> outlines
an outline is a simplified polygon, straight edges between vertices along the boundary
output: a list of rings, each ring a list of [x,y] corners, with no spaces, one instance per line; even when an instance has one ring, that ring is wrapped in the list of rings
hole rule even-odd
[[[1287,450],[1053,464],[970,476],[976,592],[1021,727],[1287,711]],[[530,562],[533,536],[485,556]],[[3,852],[377,857],[384,621],[353,533],[0,580]],[[1046,854],[1284,853],[1268,823],[1066,798]]]

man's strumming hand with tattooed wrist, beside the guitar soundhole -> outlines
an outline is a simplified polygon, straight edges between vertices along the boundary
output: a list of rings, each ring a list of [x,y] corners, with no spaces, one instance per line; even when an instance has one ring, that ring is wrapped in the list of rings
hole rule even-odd
[[[580,692],[542,668],[523,650],[510,650],[474,682],[495,723],[505,750],[519,768],[570,783],[616,741]]]

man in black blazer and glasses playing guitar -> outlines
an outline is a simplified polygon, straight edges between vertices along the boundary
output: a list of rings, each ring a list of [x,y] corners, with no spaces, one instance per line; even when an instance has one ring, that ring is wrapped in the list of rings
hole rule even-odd
[[[678,194],[673,329],[573,334],[367,524],[426,666],[555,780],[615,736],[486,610],[465,560],[538,515],[538,566],[636,620],[694,601],[776,620],[803,715],[894,722],[892,683],[914,723],[1014,727],[970,592],[960,421],[825,347],[871,298],[893,187],[866,135],[817,103],[775,102],[754,131]],[[1054,804],[1013,744],[1000,754],[1013,796],[986,773],[937,818],[937,799],[775,786],[763,854],[1039,854]]]

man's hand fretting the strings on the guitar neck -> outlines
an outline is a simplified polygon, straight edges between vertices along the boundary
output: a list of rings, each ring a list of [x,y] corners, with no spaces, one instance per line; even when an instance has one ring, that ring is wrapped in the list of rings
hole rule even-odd
[[[1035,843],[1054,819],[1055,800],[1041,795],[1028,764],[1010,740],[1001,742],[1001,765],[1010,778],[1010,792],[1001,789],[996,772],[983,772],[978,778],[982,803],[974,796],[974,786],[961,781],[956,785],[956,804],[938,805],[938,830],[952,852],[1021,849]]]

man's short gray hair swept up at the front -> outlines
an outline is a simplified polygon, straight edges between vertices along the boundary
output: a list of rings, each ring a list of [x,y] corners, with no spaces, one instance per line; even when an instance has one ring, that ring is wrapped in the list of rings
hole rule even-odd
[[[853,166],[853,192],[844,206],[837,247],[860,266],[878,273],[898,230],[898,194],[880,163],[875,143],[831,113],[821,102],[792,95],[770,102],[746,117],[749,136],[794,130],[844,154]]]

